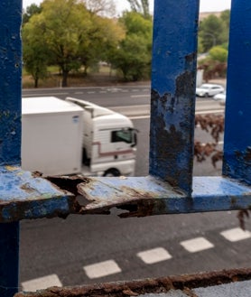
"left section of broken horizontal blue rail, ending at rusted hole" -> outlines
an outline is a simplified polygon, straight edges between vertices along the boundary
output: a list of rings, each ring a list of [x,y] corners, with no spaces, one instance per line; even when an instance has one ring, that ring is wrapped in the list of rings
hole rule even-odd
[[[17,166],[0,167],[0,184],[0,222],[65,217],[78,208],[75,195]]]

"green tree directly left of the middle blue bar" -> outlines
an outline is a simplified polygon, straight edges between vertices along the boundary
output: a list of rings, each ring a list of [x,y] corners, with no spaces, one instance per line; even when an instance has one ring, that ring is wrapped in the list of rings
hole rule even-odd
[[[125,27],[125,38],[110,56],[112,66],[122,72],[126,81],[149,79],[152,59],[152,20],[142,14],[125,12],[119,20]]]

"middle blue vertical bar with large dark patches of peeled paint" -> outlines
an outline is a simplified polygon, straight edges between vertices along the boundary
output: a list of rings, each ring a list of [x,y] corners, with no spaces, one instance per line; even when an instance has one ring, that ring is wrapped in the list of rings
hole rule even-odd
[[[191,195],[199,0],[155,0],[150,174]]]

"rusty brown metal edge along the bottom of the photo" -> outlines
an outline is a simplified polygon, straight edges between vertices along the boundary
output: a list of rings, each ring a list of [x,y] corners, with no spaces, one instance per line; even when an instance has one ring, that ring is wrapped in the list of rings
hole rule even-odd
[[[136,280],[131,282],[98,283],[76,287],[51,287],[37,292],[19,292],[14,297],[125,297],[144,293],[161,293],[170,290],[190,290],[210,287],[222,283],[243,282],[251,279],[251,269],[232,269],[201,274],[184,274],[156,279]],[[188,294],[188,296],[190,296]]]

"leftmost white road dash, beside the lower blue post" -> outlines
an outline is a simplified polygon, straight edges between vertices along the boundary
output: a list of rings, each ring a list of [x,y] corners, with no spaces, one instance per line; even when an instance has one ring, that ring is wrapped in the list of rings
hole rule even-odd
[[[62,284],[57,274],[46,275],[35,278],[31,281],[21,283],[23,291],[33,292],[36,290],[46,289],[51,286],[61,287]]]

